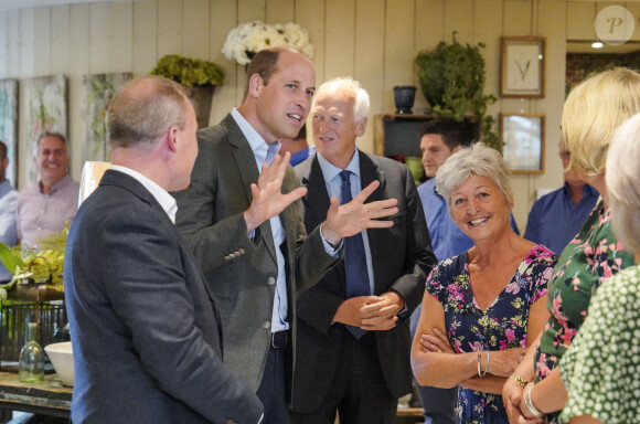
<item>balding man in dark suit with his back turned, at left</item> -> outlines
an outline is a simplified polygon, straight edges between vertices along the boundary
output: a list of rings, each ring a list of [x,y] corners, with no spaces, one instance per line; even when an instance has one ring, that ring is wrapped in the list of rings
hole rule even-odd
[[[150,107],[152,105],[152,107]],[[216,305],[173,225],[195,114],[178,84],[138,80],[107,115],[111,167],[72,224],[64,263],[72,420],[258,423],[260,401],[223,364]]]

